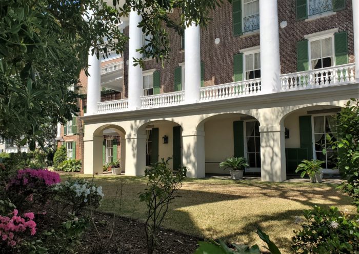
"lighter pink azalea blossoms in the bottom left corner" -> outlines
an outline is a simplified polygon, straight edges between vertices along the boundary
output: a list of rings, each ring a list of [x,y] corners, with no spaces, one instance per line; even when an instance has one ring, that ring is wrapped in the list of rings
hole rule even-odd
[[[23,216],[19,216],[16,209],[9,216],[0,215],[0,239],[2,243],[11,247],[15,246],[20,239],[19,237],[27,230],[31,236],[35,235],[36,223],[33,219],[33,213],[25,213]]]

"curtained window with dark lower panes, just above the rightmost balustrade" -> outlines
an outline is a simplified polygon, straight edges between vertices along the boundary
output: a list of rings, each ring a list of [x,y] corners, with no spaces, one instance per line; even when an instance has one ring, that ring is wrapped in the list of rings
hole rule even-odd
[[[334,65],[333,36],[309,40],[311,69],[320,69]]]

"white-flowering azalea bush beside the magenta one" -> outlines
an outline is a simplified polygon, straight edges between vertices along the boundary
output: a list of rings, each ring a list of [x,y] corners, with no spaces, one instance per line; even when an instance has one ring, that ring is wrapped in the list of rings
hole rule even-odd
[[[86,207],[97,208],[104,196],[102,186],[97,186],[86,179],[68,179],[53,186],[56,210],[80,214]],[[59,207],[61,206],[61,207]],[[61,214],[61,212],[58,212]]]

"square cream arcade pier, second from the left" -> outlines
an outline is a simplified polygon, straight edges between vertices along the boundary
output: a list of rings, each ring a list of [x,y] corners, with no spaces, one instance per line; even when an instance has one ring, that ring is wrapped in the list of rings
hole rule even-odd
[[[144,175],[146,168],[146,135],[126,134],[126,175]]]

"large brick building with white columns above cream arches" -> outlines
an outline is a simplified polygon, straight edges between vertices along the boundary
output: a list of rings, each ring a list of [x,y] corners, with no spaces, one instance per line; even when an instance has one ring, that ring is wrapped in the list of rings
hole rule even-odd
[[[356,0],[224,2],[207,29],[192,25],[184,38],[169,31],[164,68],[154,59],[141,68],[132,59],[146,40],[131,12],[121,99],[100,101],[100,62],[89,56],[85,173],[101,172],[109,131],[120,136],[128,175],[168,156],[191,177],[223,173],[218,164],[230,156],[246,157],[247,171],[269,181],[285,180],[305,158],[336,173],[336,151],[321,150],[326,134],[335,136],[332,116],[358,98],[358,16]]]

